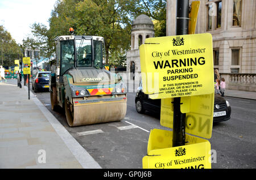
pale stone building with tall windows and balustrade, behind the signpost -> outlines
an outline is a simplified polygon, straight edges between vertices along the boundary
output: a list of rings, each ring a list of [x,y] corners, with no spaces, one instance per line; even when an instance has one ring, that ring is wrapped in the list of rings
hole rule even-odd
[[[176,0],[167,0],[167,36],[176,33]],[[256,1],[200,0],[196,33],[213,36],[214,68],[228,89],[256,91]]]

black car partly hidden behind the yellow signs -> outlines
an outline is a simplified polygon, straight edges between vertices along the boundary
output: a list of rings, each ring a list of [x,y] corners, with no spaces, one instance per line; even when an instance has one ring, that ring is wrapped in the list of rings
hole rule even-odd
[[[142,91],[142,83],[137,88],[135,97],[135,107],[138,113],[144,113],[146,110],[160,114],[161,100],[152,100]],[[220,95],[214,95],[214,113],[213,122],[227,121],[230,119],[231,107],[229,102]]]

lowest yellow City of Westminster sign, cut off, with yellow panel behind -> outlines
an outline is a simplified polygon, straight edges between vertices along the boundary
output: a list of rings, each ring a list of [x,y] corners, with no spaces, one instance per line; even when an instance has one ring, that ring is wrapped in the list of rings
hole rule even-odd
[[[143,169],[210,169],[210,143],[206,139],[186,135],[186,145],[172,147],[172,131],[154,129],[148,139]]]

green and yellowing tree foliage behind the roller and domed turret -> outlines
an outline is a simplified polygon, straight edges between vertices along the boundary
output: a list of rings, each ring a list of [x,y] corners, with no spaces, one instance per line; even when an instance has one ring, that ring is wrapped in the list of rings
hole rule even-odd
[[[155,36],[166,36],[166,0],[57,0],[49,18],[49,29],[43,24],[32,25],[32,33],[43,49],[54,52],[54,38],[69,35],[102,36],[105,39],[106,63],[123,64],[130,49],[131,24],[138,15],[153,19]]]

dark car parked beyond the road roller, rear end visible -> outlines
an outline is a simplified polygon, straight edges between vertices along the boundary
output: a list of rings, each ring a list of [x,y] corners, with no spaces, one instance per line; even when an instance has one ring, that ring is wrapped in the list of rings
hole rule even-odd
[[[38,92],[42,89],[49,89],[49,75],[50,71],[38,71],[36,76],[32,78],[32,89]]]

